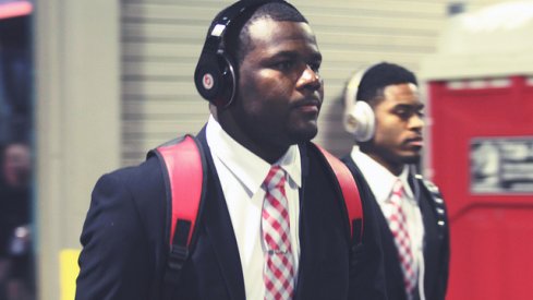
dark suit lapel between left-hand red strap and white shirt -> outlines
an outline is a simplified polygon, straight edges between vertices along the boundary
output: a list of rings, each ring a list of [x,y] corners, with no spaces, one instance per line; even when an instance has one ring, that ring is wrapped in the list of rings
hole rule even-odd
[[[206,235],[213,243],[219,263],[220,272],[228,288],[230,298],[233,300],[244,300],[244,279],[242,275],[239,248],[231,225],[231,218],[226,205],[223,192],[218,180],[218,175],[213,163],[213,158],[207,146],[205,128],[199,132],[197,139],[207,161],[207,196],[203,212]]]

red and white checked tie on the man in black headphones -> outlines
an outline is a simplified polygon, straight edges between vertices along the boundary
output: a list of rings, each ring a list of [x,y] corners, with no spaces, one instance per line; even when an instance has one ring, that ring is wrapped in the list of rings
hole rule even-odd
[[[286,173],[279,166],[270,168],[263,183],[266,191],[262,213],[266,247],[263,274],[265,300],[289,300],[294,292],[294,264],[284,183]]]

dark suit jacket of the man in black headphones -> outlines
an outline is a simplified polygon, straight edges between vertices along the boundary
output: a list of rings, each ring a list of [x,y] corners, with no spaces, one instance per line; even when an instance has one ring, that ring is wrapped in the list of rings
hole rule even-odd
[[[205,131],[198,139],[208,153]],[[294,299],[385,299],[379,239],[366,235],[366,244],[351,247],[331,170],[308,145],[301,146],[301,257]],[[209,154],[206,159],[207,196],[197,240],[177,286],[178,299],[243,300],[232,224]],[[166,205],[162,170],[155,157],[99,179],[81,237],[77,300],[160,299],[169,249]],[[368,228],[377,228],[375,218],[367,219]]]

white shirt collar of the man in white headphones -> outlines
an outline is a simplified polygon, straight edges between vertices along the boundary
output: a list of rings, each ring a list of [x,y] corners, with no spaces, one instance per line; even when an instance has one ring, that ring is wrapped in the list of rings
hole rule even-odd
[[[392,187],[398,179],[400,179],[401,183],[403,184],[405,196],[410,200],[414,199],[413,191],[411,190],[408,181],[409,167],[407,165],[403,167],[400,176],[396,177],[372,157],[365,153],[362,153],[359,146],[353,147],[350,156],[352,157],[353,161],[355,161],[363,176],[365,178],[372,178],[372,180],[367,179],[366,182],[374,193],[376,201],[384,202],[388,200],[390,193],[392,192]]]

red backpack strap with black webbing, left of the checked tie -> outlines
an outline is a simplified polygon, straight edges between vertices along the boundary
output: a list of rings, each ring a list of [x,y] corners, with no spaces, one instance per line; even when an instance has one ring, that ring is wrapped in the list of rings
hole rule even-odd
[[[189,257],[195,224],[204,197],[205,158],[202,147],[191,135],[157,147],[165,172],[168,211],[170,212],[170,252],[165,272],[163,297],[172,299],[172,291]]]

